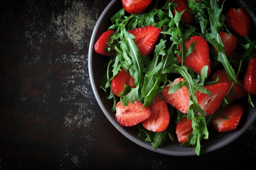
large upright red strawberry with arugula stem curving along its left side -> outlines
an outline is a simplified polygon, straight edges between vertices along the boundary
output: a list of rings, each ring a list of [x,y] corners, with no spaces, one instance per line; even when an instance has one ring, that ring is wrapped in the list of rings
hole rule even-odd
[[[189,40],[186,40],[186,49],[189,49],[190,44],[196,41],[195,48],[193,52],[186,57],[184,60],[184,65],[191,68],[195,73],[201,72],[201,69],[207,65],[208,75],[210,74],[210,56],[209,56],[209,46],[204,38],[195,35]],[[181,62],[181,58],[177,55],[177,59]]]

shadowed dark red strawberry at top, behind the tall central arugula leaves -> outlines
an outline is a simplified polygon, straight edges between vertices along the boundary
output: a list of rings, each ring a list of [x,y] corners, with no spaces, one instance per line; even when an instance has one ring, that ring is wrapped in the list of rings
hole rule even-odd
[[[189,12],[189,4],[187,0],[171,0],[171,2],[177,2],[176,11],[179,13],[186,9],[184,13],[181,15],[180,20],[184,23],[191,24],[193,22],[194,15]],[[173,11],[173,14],[175,15],[175,10]]]

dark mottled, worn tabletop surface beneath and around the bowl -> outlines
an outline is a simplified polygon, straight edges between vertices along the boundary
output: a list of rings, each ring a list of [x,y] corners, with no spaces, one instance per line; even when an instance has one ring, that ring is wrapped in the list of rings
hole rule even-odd
[[[224,148],[174,157],[142,148],[108,121],[92,92],[88,47],[109,2],[0,2],[0,170],[255,166],[256,122]],[[256,1],[245,2],[256,12]]]

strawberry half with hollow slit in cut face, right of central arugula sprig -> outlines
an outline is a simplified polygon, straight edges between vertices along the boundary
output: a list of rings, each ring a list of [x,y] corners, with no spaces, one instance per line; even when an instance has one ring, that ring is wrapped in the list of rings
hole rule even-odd
[[[213,97],[197,91],[196,98],[198,104],[201,106],[202,110],[207,113],[206,116],[213,114],[219,108],[224,97],[229,92],[230,86],[230,83],[218,83],[204,86],[204,88],[208,89],[213,94]]]

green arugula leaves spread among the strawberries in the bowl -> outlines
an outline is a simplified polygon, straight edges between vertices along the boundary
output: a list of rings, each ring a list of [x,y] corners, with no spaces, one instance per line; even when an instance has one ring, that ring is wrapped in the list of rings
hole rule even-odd
[[[102,79],[101,88],[109,93],[107,99],[113,101],[112,111],[115,111],[119,99],[111,90],[111,80],[121,71],[121,68],[125,68],[135,79],[136,88],[126,86],[125,90],[121,92],[123,106],[137,100],[143,103],[143,107],[146,107],[158,93],[162,92],[169,80],[173,80],[173,77],[183,77],[184,81],[180,81],[170,88],[169,93],[177,91],[182,86],[186,86],[188,89],[189,110],[187,117],[192,119],[193,133],[189,135],[189,139],[182,146],[196,146],[195,152],[200,155],[200,141],[202,138],[208,139],[207,127],[213,115],[204,117],[206,113],[199,106],[195,95],[197,91],[212,95],[203,86],[215,84],[218,79],[215,82],[209,82],[207,77],[208,66],[204,66],[200,74],[196,74],[190,68],[184,66],[184,59],[193,51],[195,46],[194,42],[186,50],[185,41],[193,35],[200,35],[209,44],[215,46],[217,54],[213,53],[211,46],[209,46],[211,49],[211,70],[221,65],[225,68],[227,76],[233,84],[238,83],[238,73],[244,73],[247,63],[255,56],[256,42],[238,36],[238,48],[243,51],[240,61],[231,57],[227,58],[224,45],[218,34],[219,31],[230,32],[225,25],[225,15],[222,13],[223,5],[220,6],[217,0],[211,0],[210,2],[209,0],[199,0],[196,3],[195,0],[188,0],[188,2],[190,12],[195,17],[192,24],[180,22],[180,17],[184,11],[177,12],[175,10],[177,3],[175,1],[170,2],[170,0],[155,0],[155,3],[141,14],[128,14],[124,11],[124,8],[115,13],[110,18],[112,25],[108,27],[108,29],[115,30],[115,33],[108,41],[110,47],[107,50],[110,53],[114,50],[116,53],[115,57],[111,57],[110,60],[106,59],[104,65],[106,74]],[[173,10],[175,10],[175,15],[173,15]],[[137,44],[133,40],[135,37],[128,30],[149,25],[161,28],[161,33],[153,54],[141,56]],[[178,62],[176,55],[180,56],[181,63]],[[222,105],[225,106],[229,102],[226,97]],[[248,102],[253,106],[249,95]],[[171,108],[170,124],[164,132],[151,132],[142,126],[137,126],[139,137],[146,137],[145,140],[150,142],[154,149],[162,146],[168,139],[175,141],[173,135],[175,124],[184,116],[186,114]]]

